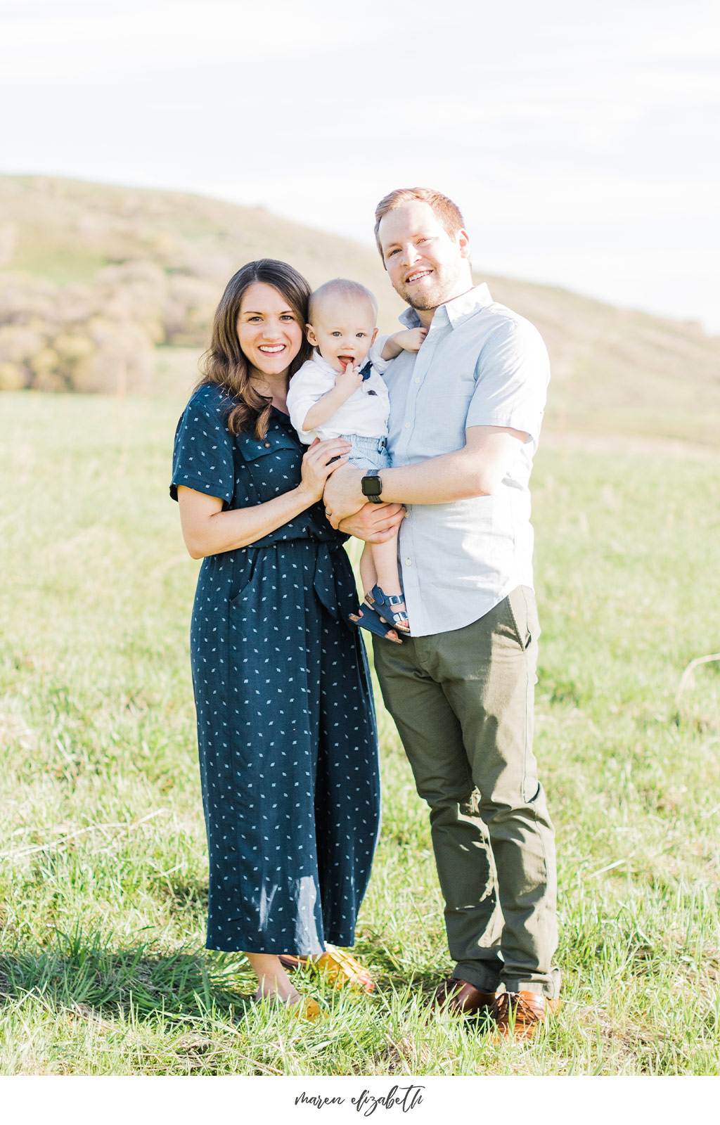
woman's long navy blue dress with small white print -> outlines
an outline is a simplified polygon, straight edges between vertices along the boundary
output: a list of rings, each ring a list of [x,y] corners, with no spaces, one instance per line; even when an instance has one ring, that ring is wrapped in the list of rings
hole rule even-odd
[[[300,444],[273,410],[235,438],[218,387],[176,433],[178,485],[223,508],[300,483]],[[202,560],[190,650],[210,860],[210,950],[316,954],[352,945],[380,814],[378,744],[345,537],[314,504],[250,547]]]

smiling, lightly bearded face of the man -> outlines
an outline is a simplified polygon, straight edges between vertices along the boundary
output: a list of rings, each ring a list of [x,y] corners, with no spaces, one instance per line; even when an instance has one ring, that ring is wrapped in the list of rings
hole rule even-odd
[[[430,204],[388,212],[378,236],[393,288],[413,308],[436,308],[471,288],[467,232],[451,238]]]

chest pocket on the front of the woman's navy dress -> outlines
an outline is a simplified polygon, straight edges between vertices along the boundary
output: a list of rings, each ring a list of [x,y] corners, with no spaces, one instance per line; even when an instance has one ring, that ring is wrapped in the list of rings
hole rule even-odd
[[[237,504],[262,504],[300,483],[303,450],[291,433],[269,431],[263,441],[250,434],[235,439]]]

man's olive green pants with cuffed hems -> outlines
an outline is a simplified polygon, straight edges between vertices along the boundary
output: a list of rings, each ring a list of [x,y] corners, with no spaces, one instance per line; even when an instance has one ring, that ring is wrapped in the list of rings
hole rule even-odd
[[[374,648],[430,806],[452,975],[555,998],[555,831],[532,753],[539,632],[519,586],[464,629]]]

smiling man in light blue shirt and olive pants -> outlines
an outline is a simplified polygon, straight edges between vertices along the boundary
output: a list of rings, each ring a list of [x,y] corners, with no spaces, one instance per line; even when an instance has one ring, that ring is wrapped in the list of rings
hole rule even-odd
[[[376,219],[382,263],[411,306],[400,320],[428,335],[385,374],[393,468],[336,471],[325,504],[356,533],[368,498],[406,507],[399,560],[412,637],[376,640],[375,664],[430,806],[456,961],[436,1002],[489,1012],[501,1034],[528,1038],[560,984],[555,834],[532,754],[540,630],[528,482],[548,357],[528,321],[474,286],[450,199],[400,189]]]

